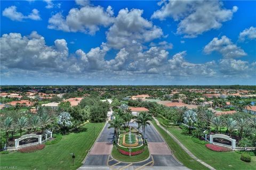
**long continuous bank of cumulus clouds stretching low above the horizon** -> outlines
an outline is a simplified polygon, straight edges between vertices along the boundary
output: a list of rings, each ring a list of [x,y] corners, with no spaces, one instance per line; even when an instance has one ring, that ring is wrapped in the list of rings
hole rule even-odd
[[[138,80],[166,82],[166,80],[213,80],[223,76],[251,77],[256,71],[255,62],[223,58],[195,64],[186,60],[186,51],[170,56],[165,49],[152,46],[142,48],[140,43],[132,44],[118,50],[112,60],[106,60],[109,46],[91,48],[88,52],[82,49],[70,54],[65,39],[57,39],[54,45],[48,46],[44,37],[33,31],[28,36],[20,33],[4,34],[1,39],[1,77],[9,79],[25,74],[26,79],[46,77],[58,80],[84,79],[130,83]],[[165,42],[159,44],[165,45]],[[24,76],[25,76],[24,75]],[[41,79],[42,77],[42,79]],[[11,81],[11,79],[10,79]]]

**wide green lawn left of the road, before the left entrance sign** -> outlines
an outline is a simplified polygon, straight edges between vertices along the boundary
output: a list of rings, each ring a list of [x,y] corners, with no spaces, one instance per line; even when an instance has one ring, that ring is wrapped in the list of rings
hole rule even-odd
[[[18,169],[77,169],[103,128],[104,123],[87,123],[79,133],[63,135],[62,140],[43,150],[31,153],[11,152],[1,155],[1,166],[17,166]],[[75,153],[73,166],[71,153]]]

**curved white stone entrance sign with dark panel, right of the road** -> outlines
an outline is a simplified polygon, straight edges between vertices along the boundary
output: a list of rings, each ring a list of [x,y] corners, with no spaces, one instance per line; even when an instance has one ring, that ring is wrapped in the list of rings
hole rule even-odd
[[[215,145],[231,147],[233,149],[236,148],[236,140],[230,138],[228,135],[225,134],[210,135],[210,143],[213,143]]]

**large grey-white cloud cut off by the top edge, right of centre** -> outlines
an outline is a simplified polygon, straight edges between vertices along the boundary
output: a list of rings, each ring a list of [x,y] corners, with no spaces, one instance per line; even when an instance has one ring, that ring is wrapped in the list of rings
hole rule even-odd
[[[237,6],[233,6],[231,10],[223,8],[222,2],[218,1],[169,1],[163,4],[151,18],[173,18],[179,22],[177,33],[185,34],[187,38],[194,38],[205,31],[220,28],[222,22],[231,20],[233,13],[238,10]]]

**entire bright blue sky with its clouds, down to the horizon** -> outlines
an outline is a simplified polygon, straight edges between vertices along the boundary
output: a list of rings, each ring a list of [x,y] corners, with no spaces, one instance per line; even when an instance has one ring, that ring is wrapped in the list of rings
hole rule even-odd
[[[254,1],[1,1],[1,84],[256,85]]]

